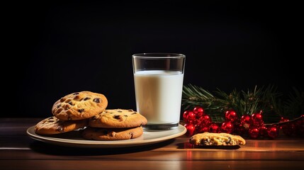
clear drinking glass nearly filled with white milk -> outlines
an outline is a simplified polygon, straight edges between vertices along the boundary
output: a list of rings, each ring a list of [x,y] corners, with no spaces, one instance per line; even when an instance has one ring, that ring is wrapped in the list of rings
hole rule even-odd
[[[137,112],[147,130],[179,126],[186,56],[176,53],[132,55]]]

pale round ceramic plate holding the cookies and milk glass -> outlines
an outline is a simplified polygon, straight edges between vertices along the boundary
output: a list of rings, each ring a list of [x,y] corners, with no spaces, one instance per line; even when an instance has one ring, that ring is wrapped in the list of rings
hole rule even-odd
[[[26,131],[34,140],[50,143],[52,145],[61,145],[67,147],[133,147],[140,145],[150,145],[165,140],[171,140],[186,133],[186,128],[183,125],[173,130],[147,131],[144,130],[142,136],[131,140],[116,140],[116,141],[96,141],[84,140],[79,131],[66,132],[58,135],[42,136],[35,133],[35,126],[28,128]]]

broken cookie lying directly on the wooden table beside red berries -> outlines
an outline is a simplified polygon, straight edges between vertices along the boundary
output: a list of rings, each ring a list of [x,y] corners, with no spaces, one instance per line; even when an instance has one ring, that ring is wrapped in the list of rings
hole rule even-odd
[[[231,135],[229,133],[213,133],[203,132],[190,137],[189,142],[193,145],[245,145],[246,141],[239,135]]]

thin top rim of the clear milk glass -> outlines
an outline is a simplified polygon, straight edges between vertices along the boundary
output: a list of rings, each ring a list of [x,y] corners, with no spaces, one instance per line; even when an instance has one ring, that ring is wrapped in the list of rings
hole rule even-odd
[[[170,53],[170,52],[147,52],[147,53],[137,53],[132,55],[136,58],[181,58],[186,57],[180,53]]]

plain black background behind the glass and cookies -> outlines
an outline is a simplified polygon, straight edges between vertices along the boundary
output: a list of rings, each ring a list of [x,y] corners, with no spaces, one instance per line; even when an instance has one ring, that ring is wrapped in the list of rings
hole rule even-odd
[[[208,91],[303,83],[300,4],[278,1],[36,1],[9,4],[2,117],[48,117],[76,91],[135,109],[131,55],[186,55],[184,84]],[[4,69],[9,67],[9,69]]]

